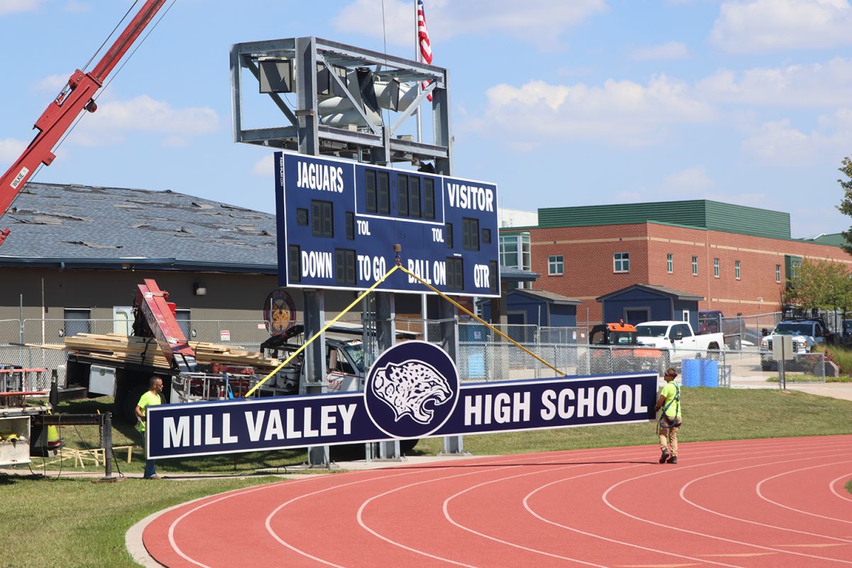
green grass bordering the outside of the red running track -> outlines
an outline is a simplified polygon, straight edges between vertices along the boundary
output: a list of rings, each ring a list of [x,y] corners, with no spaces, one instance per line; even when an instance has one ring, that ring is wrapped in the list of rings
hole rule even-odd
[[[60,411],[108,410],[108,404],[108,399],[72,402],[64,404]],[[852,433],[852,402],[805,393],[690,388],[683,389],[682,404],[683,427],[679,435],[682,442]],[[745,428],[744,422],[748,424]],[[475,455],[499,455],[648,445],[648,455],[656,457],[654,432],[653,423],[646,422],[486,434],[466,436],[464,449]],[[72,447],[94,447],[98,439],[95,427],[64,427],[62,435]],[[139,443],[133,428],[118,424],[113,433],[114,445],[133,442]],[[440,449],[440,439],[424,439],[412,453],[435,455]],[[688,459],[688,452],[683,457]],[[235,475],[228,479],[194,481],[128,479],[122,483],[93,484],[83,479],[0,475],[4,530],[0,567],[133,566],[124,548],[124,533],[140,519],[200,496],[268,483],[274,478],[253,475],[257,468],[295,465],[303,459],[303,450],[293,450],[158,462],[158,472],[167,476]],[[38,460],[35,458],[33,463],[34,471],[41,469]],[[57,465],[49,468],[55,469]],[[118,465],[123,471],[141,472],[141,447],[135,451],[130,466]],[[88,469],[95,471],[91,466]],[[847,489],[852,492],[852,482]]]

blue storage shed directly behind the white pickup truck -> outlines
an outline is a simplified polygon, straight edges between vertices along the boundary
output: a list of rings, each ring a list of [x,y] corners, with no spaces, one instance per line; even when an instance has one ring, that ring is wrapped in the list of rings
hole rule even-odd
[[[702,300],[704,296],[655,284],[633,284],[597,298],[604,323],[636,325],[674,319],[688,321],[694,330],[698,330],[698,302]]]

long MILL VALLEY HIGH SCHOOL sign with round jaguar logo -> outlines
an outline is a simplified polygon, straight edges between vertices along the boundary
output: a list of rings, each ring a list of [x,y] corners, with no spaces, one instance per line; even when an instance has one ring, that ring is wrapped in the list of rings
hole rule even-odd
[[[372,365],[363,393],[148,407],[149,458],[654,419],[656,374],[459,384],[440,347],[406,341]]]

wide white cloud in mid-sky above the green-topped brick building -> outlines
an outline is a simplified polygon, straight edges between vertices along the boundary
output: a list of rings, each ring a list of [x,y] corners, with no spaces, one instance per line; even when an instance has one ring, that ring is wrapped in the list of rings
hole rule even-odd
[[[646,146],[677,123],[714,118],[710,106],[689,95],[687,85],[653,77],[647,85],[607,80],[601,86],[531,81],[500,84],[486,92],[486,111],[469,129],[499,134],[530,151],[554,141],[596,140],[611,146]]]

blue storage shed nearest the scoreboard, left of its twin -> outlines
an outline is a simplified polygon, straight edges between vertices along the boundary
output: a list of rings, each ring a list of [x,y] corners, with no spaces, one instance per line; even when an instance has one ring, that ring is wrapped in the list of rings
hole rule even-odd
[[[482,318],[491,321],[491,301],[478,302]],[[540,327],[574,327],[577,325],[579,300],[544,290],[517,288],[506,293],[508,323]]]

